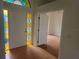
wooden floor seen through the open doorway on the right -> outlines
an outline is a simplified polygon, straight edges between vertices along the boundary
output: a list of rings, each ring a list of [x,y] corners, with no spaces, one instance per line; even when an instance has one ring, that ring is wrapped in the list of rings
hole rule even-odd
[[[58,58],[60,38],[57,36],[48,35],[47,44],[40,45],[45,51]]]

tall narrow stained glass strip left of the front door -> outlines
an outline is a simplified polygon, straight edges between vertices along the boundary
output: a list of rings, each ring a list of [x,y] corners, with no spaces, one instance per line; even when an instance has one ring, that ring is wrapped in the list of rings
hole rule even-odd
[[[9,50],[9,24],[8,24],[8,10],[3,10],[4,15],[4,44],[5,50]]]

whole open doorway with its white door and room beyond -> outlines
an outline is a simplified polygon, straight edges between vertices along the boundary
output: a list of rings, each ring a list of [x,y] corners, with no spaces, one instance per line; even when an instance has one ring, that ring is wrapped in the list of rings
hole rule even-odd
[[[38,45],[58,57],[63,10],[39,13]],[[47,46],[47,49],[46,49]]]

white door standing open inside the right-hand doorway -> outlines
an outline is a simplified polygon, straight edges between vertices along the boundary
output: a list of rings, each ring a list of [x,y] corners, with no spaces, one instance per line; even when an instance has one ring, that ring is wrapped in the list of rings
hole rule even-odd
[[[47,44],[48,16],[46,14],[41,13],[38,20],[38,45]]]

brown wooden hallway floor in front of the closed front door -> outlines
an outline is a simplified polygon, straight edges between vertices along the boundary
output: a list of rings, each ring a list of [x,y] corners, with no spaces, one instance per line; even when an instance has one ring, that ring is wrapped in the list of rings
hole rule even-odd
[[[50,43],[50,41],[48,42]],[[49,43],[48,45],[50,45]],[[51,47],[53,46],[51,45]],[[56,43],[54,47],[57,47]],[[6,59],[58,59],[58,51],[56,50],[56,48],[55,50],[52,50],[51,48],[48,49],[50,51],[47,51],[47,49],[45,49],[42,49],[40,47],[27,48],[26,46],[16,48],[11,50],[9,54],[6,54]],[[55,51],[54,54],[50,53],[52,51]]]

